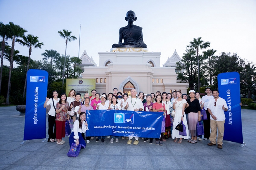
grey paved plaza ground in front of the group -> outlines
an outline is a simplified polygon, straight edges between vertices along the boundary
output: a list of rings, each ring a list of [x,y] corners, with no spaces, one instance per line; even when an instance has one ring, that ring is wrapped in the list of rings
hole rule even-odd
[[[209,141],[177,144],[168,139],[157,146],[139,139],[136,146],[122,139],[119,143],[110,143],[110,139],[96,143],[94,139],[77,158],[66,155],[68,137],[64,145],[42,139],[20,144],[24,120],[15,107],[1,107],[0,169],[256,169],[255,110],[242,109],[243,148],[229,141],[218,149],[207,146]]]

